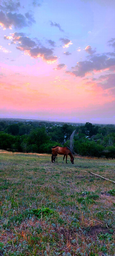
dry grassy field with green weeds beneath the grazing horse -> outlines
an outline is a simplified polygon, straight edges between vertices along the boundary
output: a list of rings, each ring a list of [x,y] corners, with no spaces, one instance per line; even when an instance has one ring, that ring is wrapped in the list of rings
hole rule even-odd
[[[62,159],[0,151],[0,255],[114,255],[114,160]]]

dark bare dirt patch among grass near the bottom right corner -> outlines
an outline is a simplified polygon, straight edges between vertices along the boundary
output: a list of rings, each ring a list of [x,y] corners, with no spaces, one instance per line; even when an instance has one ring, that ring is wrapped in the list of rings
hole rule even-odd
[[[102,232],[103,234],[111,233],[106,227],[95,226],[91,227],[87,234],[90,235],[91,237],[96,237],[96,235],[99,234],[100,232]]]

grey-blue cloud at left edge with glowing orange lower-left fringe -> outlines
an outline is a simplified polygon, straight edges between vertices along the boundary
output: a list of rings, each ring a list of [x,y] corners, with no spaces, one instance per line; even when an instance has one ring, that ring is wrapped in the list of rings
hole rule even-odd
[[[25,16],[21,13],[17,14],[16,12],[7,12],[5,14],[3,11],[0,11],[0,25],[3,29],[11,29],[11,26],[14,26],[15,28],[22,28],[35,23],[34,18],[29,12],[27,12]]]

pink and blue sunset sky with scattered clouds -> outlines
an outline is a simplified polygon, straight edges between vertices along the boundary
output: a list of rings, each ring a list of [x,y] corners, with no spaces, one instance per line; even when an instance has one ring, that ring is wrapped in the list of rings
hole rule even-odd
[[[114,0],[0,0],[0,117],[114,124]]]

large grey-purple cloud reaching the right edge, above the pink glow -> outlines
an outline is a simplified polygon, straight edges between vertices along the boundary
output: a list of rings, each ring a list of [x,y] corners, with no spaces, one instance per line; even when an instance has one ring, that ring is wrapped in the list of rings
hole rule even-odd
[[[113,70],[115,65],[115,58],[108,58],[106,55],[92,56],[89,61],[77,62],[77,65],[71,71],[66,73],[75,75],[76,77],[84,77],[88,72],[97,72],[100,70]]]

